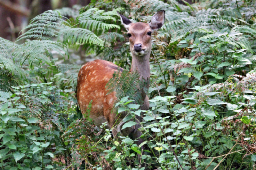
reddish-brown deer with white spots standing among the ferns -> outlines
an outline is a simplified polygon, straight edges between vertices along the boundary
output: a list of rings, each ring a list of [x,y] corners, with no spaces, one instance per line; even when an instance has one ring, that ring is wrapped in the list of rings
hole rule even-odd
[[[150,67],[149,57],[151,53],[151,35],[154,31],[160,29],[164,24],[165,11],[161,10],[154,14],[149,23],[137,22],[133,23],[124,15],[118,12],[121,23],[127,30],[127,35],[130,42],[130,51],[132,55],[131,73],[137,71],[140,74],[140,81],[149,80],[150,78]],[[118,70],[118,66],[105,60],[94,60],[85,63],[77,77],[77,102],[80,107],[82,114],[88,108],[89,103],[92,100],[90,118],[94,121],[97,126],[102,123],[108,122],[106,129],[112,129],[112,135],[115,138],[118,132],[121,132],[124,136],[131,136],[133,140],[138,140],[138,145],[143,142],[140,138],[141,131],[140,121],[141,116],[137,117],[137,124],[130,128],[123,130],[122,126],[124,122],[120,122],[117,126],[113,127],[117,116],[115,113],[111,113],[112,108],[117,100],[115,92],[108,93],[106,90],[106,84],[109,79],[113,77],[114,71]],[[120,68],[120,71],[123,71]],[[149,81],[147,81],[147,88],[149,88]],[[140,89],[139,89],[140,90]],[[146,92],[141,89],[142,105],[141,110],[149,109],[149,101]],[[125,117],[126,113],[121,113]]]

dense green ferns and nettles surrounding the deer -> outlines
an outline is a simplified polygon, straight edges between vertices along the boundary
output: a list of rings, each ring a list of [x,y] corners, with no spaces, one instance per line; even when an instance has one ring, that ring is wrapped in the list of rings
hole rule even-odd
[[[116,11],[149,22],[159,10],[165,24],[152,36],[141,151],[130,137],[95,127],[91,106],[82,119],[73,53],[128,69]],[[255,15],[254,0],[100,0],[38,15],[15,43],[0,38],[0,168],[255,169]],[[119,97],[114,112],[128,112],[124,127],[141,113],[131,103],[137,78],[123,71],[109,82]]]

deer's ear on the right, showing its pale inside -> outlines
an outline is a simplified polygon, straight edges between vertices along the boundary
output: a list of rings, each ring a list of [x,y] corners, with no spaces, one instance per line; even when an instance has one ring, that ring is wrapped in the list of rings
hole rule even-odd
[[[152,16],[151,21],[149,22],[149,26],[153,31],[160,29],[164,25],[164,17],[164,10],[158,11],[155,15]]]

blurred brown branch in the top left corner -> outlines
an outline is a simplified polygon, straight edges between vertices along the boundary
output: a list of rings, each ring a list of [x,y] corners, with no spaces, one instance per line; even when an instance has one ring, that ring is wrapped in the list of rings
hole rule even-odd
[[[9,0],[0,0],[0,6],[4,7],[8,11],[11,11],[26,17],[28,17],[30,14],[30,10],[20,6],[19,4],[12,3]]]

